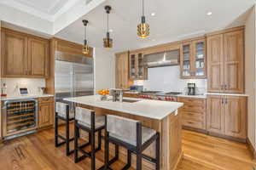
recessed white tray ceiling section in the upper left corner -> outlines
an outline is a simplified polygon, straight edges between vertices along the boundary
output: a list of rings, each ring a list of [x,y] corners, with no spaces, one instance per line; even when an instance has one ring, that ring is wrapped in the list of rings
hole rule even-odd
[[[105,1],[0,0],[0,20],[47,35],[55,35]]]

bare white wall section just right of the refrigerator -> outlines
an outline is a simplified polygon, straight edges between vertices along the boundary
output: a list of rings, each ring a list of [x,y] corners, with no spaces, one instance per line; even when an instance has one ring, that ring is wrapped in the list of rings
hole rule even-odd
[[[114,53],[104,48],[95,48],[95,89],[114,88]]]

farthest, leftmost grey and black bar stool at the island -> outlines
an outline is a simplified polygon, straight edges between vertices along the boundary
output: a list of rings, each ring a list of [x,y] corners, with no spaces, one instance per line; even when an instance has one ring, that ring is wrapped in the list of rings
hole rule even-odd
[[[58,121],[61,119],[65,122],[66,137],[63,137],[58,132]],[[74,138],[69,137],[69,122],[74,120],[74,114],[69,113],[69,105],[66,103],[55,102],[55,147],[59,147],[62,144],[66,144],[66,156],[73,153],[73,150],[69,149],[69,142]],[[62,139],[63,142],[59,143],[58,139]]]

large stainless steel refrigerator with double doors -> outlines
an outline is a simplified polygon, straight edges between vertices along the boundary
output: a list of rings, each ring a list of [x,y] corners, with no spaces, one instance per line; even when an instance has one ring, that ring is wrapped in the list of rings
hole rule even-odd
[[[55,100],[94,94],[93,58],[55,53]],[[67,103],[67,102],[65,102]],[[69,103],[74,111],[73,103]]]

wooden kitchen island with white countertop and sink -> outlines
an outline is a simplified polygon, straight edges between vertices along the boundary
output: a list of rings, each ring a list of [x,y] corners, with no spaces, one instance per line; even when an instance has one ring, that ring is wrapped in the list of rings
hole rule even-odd
[[[123,102],[102,101],[99,95],[64,99],[80,107],[96,111],[99,115],[116,115],[143,122],[143,126],[160,132],[160,169],[174,170],[182,156],[181,115],[178,108],[183,103],[150,99],[124,98]],[[155,144],[151,144],[143,154],[154,157]],[[110,147],[111,154],[114,153]],[[119,151],[119,159],[126,161],[126,151]],[[132,167],[136,167],[136,156],[132,156]],[[154,169],[154,164],[143,160],[143,169]]]

